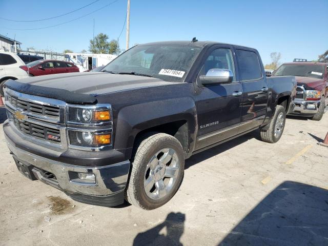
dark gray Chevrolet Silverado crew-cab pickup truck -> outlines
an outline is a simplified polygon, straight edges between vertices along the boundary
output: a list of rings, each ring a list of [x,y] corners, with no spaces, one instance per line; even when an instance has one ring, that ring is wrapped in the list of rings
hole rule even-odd
[[[295,94],[295,77],[265,77],[255,49],[150,43],[102,72],[8,80],[4,132],[30,179],[77,201],[150,210],[173,197],[191,155],[255,129],[278,141]]]

